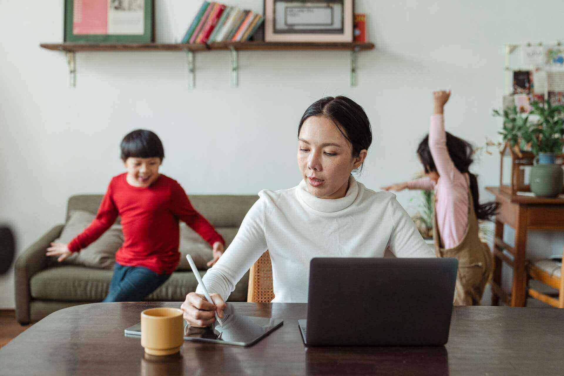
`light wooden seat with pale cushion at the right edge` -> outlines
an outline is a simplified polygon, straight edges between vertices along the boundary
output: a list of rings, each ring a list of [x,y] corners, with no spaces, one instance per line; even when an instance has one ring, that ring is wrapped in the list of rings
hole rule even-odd
[[[564,256],[564,253],[562,256]],[[527,293],[531,298],[538,299],[553,307],[564,308],[564,263],[562,261],[557,262],[557,260],[548,259],[527,262],[527,286],[531,279],[558,290],[558,298],[554,298],[527,287]]]

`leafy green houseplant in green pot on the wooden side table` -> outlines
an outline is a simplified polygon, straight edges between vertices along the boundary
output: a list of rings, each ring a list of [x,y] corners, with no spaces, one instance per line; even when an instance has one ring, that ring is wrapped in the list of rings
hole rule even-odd
[[[499,134],[518,154],[531,151],[538,160],[531,169],[531,191],[536,196],[556,197],[562,191],[564,171],[555,164],[556,155],[564,146],[564,106],[550,102],[531,103],[530,113],[519,113],[516,106],[493,116],[503,117]]]

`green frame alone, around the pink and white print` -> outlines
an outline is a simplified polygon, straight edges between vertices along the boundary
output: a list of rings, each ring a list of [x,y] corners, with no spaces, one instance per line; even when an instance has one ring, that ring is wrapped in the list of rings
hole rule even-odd
[[[108,0],[110,1],[110,0]],[[74,0],[65,0],[64,3],[64,42],[70,43],[152,43],[155,41],[155,2],[142,0],[143,7],[143,34],[74,34]]]

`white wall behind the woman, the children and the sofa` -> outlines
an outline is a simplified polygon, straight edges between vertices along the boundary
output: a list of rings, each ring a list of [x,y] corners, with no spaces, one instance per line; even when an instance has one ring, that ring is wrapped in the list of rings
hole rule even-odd
[[[160,40],[174,39],[199,6],[172,1],[157,0]],[[452,89],[448,130],[475,144],[496,139],[500,124],[490,114],[504,91],[504,43],[553,41],[564,12],[561,1],[545,2],[550,11],[535,17],[524,0],[359,0],[376,49],[359,54],[355,88],[346,51],[241,52],[238,89],[230,87],[229,53],[215,51],[196,56],[196,90],[187,88],[182,52],[80,53],[70,89],[64,55],[38,47],[62,40],[62,3],[0,0],[0,222],[14,227],[19,253],[63,222],[71,194],[104,192],[122,171],[122,136],[140,127],[160,135],[162,172],[188,193],[288,188],[299,181],[301,114],[324,95],[344,94],[373,126],[360,180],[377,189],[409,178],[420,169],[415,149],[431,90]],[[262,0],[229,3],[262,11]],[[475,163],[482,187],[496,184],[498,163]],[[398,194],[411,211],[412,196]],[[561,235],[532,233],[528,247],[552,254],[563,244]],[[0,277],[0,308],[10,307],[12,275]]]

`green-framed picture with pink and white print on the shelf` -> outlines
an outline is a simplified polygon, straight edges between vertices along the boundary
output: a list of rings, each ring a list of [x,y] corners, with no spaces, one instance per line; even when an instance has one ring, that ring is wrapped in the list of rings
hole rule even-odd
[[[153,0],[65,0],[64,41],[151,43]]]

